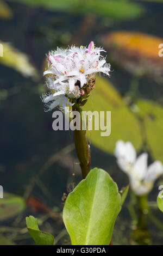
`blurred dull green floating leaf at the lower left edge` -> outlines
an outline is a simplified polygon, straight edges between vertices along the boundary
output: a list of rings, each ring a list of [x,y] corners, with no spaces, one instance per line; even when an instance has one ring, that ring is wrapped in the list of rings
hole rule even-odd
[[[20,214],[25,208],[26,203],[22,197],[4,193],[3,199],[0,199],[0,221]]]

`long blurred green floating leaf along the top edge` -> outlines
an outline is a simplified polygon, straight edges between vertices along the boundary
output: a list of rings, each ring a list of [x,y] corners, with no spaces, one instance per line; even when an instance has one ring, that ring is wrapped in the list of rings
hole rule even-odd
[[[116,19],[133,19],[135,17],[139,17],[144,12],[144,8],[138,3],[118,0],[89,0],[86,5],[83,4],[82,0],[17,0],[17,2],[26,3],[34,7],[41,6],[48,10],[70,11],[76,14],[96,13],[99,15],[114,17]]]

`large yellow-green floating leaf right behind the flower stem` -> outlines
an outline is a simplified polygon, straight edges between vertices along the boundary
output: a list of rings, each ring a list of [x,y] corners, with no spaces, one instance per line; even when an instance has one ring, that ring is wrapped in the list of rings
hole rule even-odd
[[[87,100],[84,111],[111,111],[111,135],[101,136],[101,130],[87,132],[91,143],[106,153],[113,153],[119,139],[130,141],[136,150],[141,148],[142,136],[140,123],[130,109],[125,105],[118,91],[106,78],[96,78],[95,89]],[[102,116],[100,115],[102,118]],[[103,119],[103,118],[102,118]],[[106,113],[105,113],[106,124]],[[133,129],[134,127],[134,129]]]

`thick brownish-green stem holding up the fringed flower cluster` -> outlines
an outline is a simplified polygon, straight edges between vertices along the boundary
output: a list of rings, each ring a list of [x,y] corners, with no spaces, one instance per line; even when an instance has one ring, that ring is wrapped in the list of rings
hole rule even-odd
[[[72,106],[73,111],[78,111],[80,114],[80,130],[74,130],[74,143],[76,146],[76,151],[78,155],[78,159],[80,161],[80,167],[82,169],[83,179],[86,178],[86,175],[90,171],[90,149],[87,143],[86,131],[82,130],[82,109],[79,105]]]

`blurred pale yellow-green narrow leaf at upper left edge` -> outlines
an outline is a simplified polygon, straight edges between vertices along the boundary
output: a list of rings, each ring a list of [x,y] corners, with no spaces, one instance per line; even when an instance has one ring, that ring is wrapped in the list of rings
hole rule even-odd
[[[21,72],[25,77],[38,77],[37,70],[29,62],[29,58],[26,54],[18,51],[10,43],[0,41],[0,44],[3,47],[3,57],[0,57],[0,64]]]

